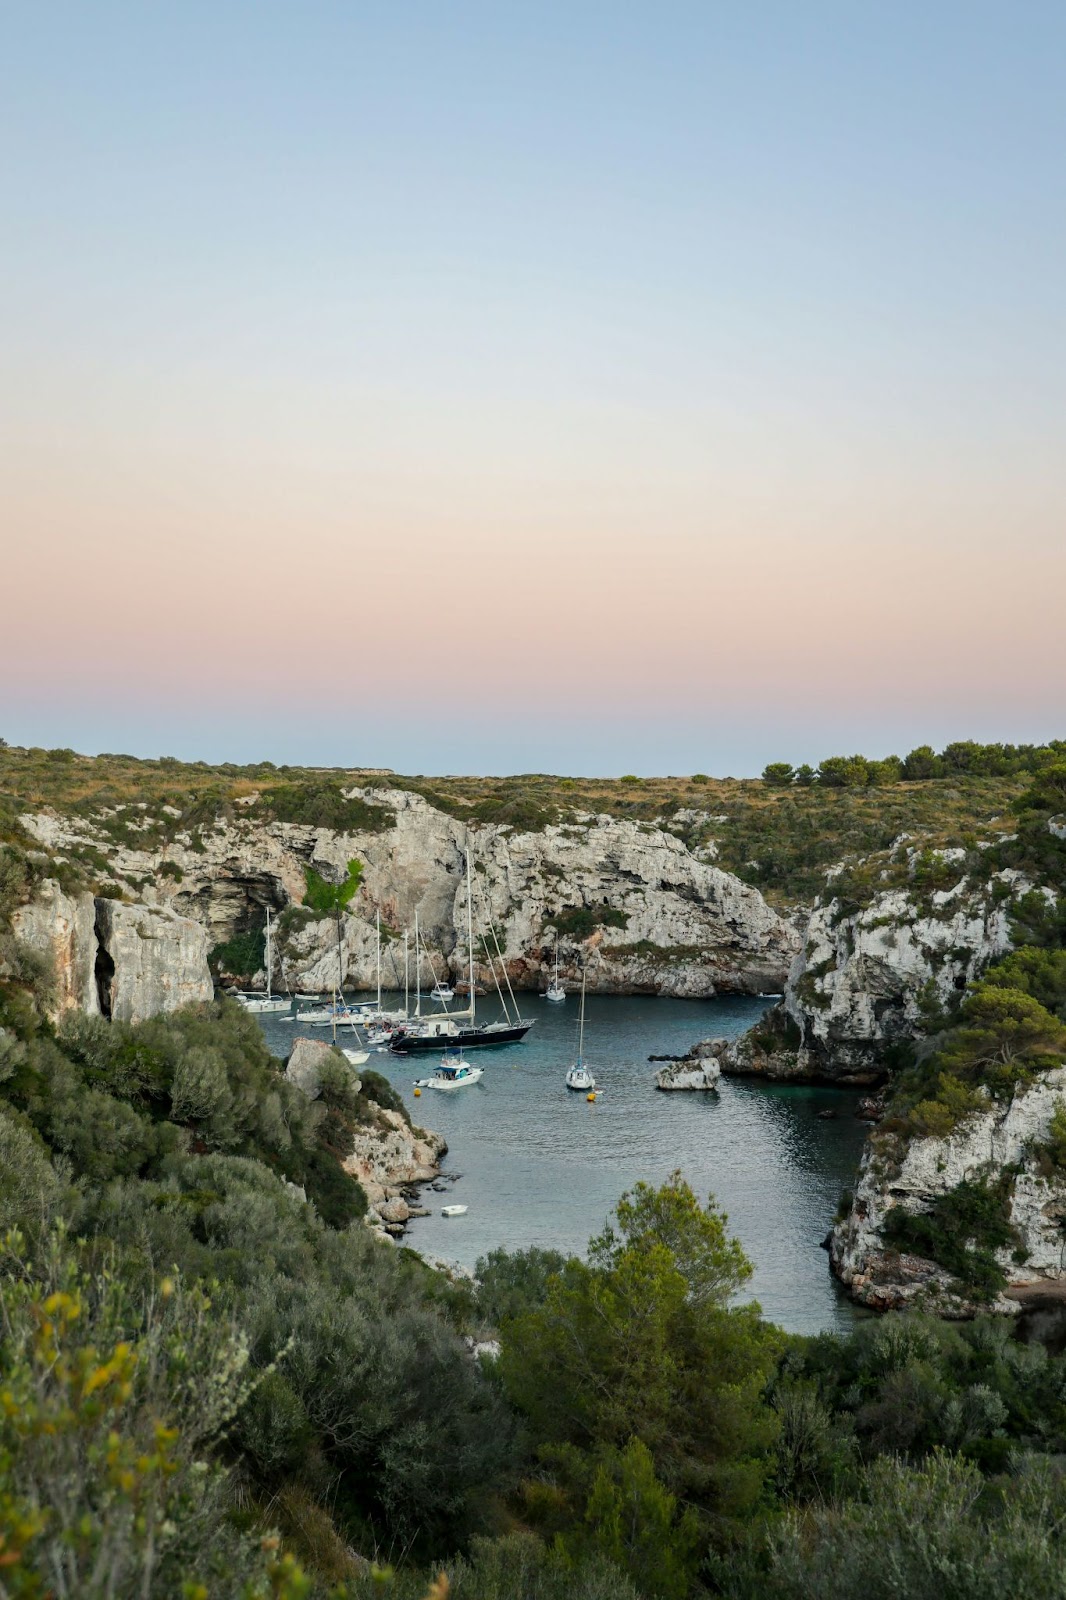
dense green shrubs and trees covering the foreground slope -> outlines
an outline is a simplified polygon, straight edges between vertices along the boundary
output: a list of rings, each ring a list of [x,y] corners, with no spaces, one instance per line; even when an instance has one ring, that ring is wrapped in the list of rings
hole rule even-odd
[[[1055,1021],[1055,952],[1012,962]],[[1002,1322],[786,1338],[680,1174],[453,1283],[323,1178],[376,1074],[309,1104],[229,1005],[0,1006],[0,1594],[1061,1600],[1066,1363]]]

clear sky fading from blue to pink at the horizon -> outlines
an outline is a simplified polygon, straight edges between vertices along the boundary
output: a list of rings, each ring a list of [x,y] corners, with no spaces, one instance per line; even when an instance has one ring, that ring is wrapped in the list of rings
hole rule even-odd
[[[0,21],[0,736],[1066,734],[1066,8]]]

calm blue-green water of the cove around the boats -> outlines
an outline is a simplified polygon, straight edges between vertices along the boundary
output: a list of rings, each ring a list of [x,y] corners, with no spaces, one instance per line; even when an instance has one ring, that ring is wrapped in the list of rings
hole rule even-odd
[[[395,1003],[394,997],[389,997]],[[655,1088],[648,1054],[680,1054],[698,1038],[736,1035],[765,1010],[759,1000],[656,1000],[592,995],[586,1056],[603,1090],[591,1106],[563,1075],[576,1053],[578,1003],[522,995],[536,1026],[520,1045],[471,1051],[480,1083],[415,1099],[411,1083],[435,1056],[379,1053],[373,1066],[403,1094],[415,1122],[448,1139],[447,1194],[424,1190],[432,1216],[411,1222],[407,1243],[472,1267],[496,1245],[544,1245],[583,1253],[618,1195],[661,1182],[680,1168],[712,1192],[755,1264],[752,1294],[767,1317],[795,1333],[847,1328],[852,1304],[820,1250],[840,1189],[855,1181],[864,1128],[855,1091],[759,1085],[723,1078],[719,1094]],[[495,1008],[487,1008],[487,1018]],[[287,1054],[293,1034],[328,1038],[259,1018],[271,1048]],[[832,1109],[826,1122],[816,1112]],[[440,1206],[469,1206],[443,1218]]]

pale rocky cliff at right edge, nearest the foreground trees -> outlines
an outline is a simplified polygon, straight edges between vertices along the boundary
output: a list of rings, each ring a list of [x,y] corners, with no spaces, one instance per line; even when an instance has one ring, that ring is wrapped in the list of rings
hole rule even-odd
[[[996,1310],[1016,1312],[1020,1299],[1066,1282],[1066,1178],[1044,1176],[1036,1147],[1047,1141],[1052,1115],[1066,1094],[1066,1067],[1044,1074],[1008,1104],[988,1101],[943,1139],[912,1139],[906,1150],[890,1134],[874,1134],[848,1216],[832,1229],[832,1270],[852,1294],[877,1310],[920,1304],[948,1317],[976,1306],[951,1288],[951,1274],[917,1256],[898,1254],[884,1240],[888,1213],[927,1211],[964,1179],[1000,1179],[1013,1168],[1010,1224],[1016,1243],[997,1251],[1010,1286]],[[1018,1298],[1013,1298],[1018,1296]]]

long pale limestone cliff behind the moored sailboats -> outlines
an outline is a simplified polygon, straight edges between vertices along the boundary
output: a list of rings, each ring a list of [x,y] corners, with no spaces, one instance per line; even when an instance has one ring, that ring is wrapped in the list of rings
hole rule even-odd
[[[594,938],[560,939],[563,976],[573,982],[589,963],[589,987],[619,994],[703,997],[760,992],[783,984],[799,946],[795,930],[757,890],[691,854],[659,827],[587,816],[539,832],[467,824],[421,795],[354,790],[387,808],[383,832],[339,834],[327,827],[256,819],[253,803],[195,835],[160,846],[150,818],[134,818],[115,845],[104,821],[29,814],[22,821],[53,853],[102,851],[120,885],[155,907],[195,918],[208,944],[262,923],[271,906],[282,917],[275,986],[330,990],[338,981],[368,989],[376,981],[375,915],[384,928],[383,979],[403,982],[402,928],[419,926],[432,971],[461,976],[466,963],[464,853],[475,862],[475,920],[496,926],[511,981],[539,989],[554,960],[552,918],[607,906],[621,926]],[[138,808],[133,808],[134,811]],[[146,834],[144,848],[136,832]],[[360,888],[339,928],[335,917],[299,910],[306,867],[343,882],[347,862],[362,862]],[[485,978],[488,976],[485,970]],[[411,958],[411,981],[415,963]],[[424,968],[423,978],[432,982]]]

